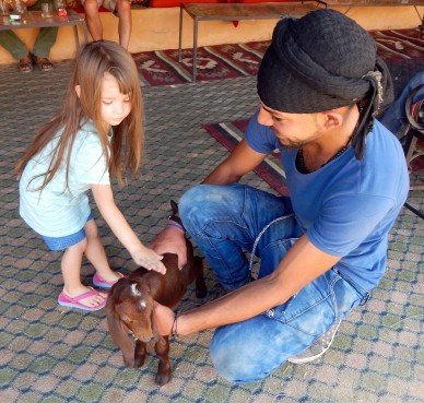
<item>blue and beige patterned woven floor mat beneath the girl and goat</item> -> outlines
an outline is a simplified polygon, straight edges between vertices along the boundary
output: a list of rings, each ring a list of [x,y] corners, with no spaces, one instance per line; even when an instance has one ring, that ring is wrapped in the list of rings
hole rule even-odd
[[[0,68],[0,396],[8,403],[421,403],[423,402],[423,221],[403,209],[390,232],[388,270],[365,307],[340,328],[331,348],[316,363],[286,365],[267,380],[229,384],[209,357],[212,331],[174,340],[174,378],[157,388],[157,358],[140,369],[122,365],[106,329],[104,311],[57,306],[62,288],[60,254],[49,253],[17,213],[14,165],[37,128],[63,100],[72,62],[47,74]],[[403,72],[405,69],[403,69]],[[408,76],[407,76],[408,79]],[[225,157],[201,126],[249,116],[257,105],[255,78],[178,87],[146,87],[144,164],[137,180],[119,188],[117,204],[143,242],[163,228],[169,199],[199,183]],[[48,96],[46,96],[48,94]],[[257,175],[248,185],[270,190]],[[424,209],[422,193],[414,203]],[[98,212],[95,214],[98,217]],[[131,259],[98,220],[110,264],[130,272]],[[91,284],[94,269],[84,263]],[[210,294],[216,298],[212,271]],[[198,300],[190,287],[178,310]]]

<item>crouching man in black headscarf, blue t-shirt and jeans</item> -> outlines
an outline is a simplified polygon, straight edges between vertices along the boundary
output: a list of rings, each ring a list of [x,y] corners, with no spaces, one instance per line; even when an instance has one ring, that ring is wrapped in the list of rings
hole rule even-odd
[[[245,139],[179,203],[184,227],[229,293],[177,318],[157,305],[163,334],[217,328],[211,358],[233,382],[328,349],[384,275],[388,232],[408,193],[402,149],[374,119],[390,85],[373,38],[345,15],[326,9],[278,23]],[[274,149],[291,198],[237,183]],[[153,241],[181,265],[182,232],[170,223]],[[252,250],[260,269],[251,282],[244,251]]]

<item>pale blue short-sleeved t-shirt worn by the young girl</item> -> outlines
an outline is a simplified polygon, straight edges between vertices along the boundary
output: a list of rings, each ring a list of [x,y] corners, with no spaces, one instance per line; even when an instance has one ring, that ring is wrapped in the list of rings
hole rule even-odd
[[[101,140],[89,121],[78,131],[71,150],[68,188],[64,157],[52,180],[42,191],[34,190],[44,176],[32,179],[47,171],[61,132],[28,162],[20,180],[20,214],[36,233],[48,237],[63,237],[83,228],[90,215],[86,193],[91,186],[110,183]]]

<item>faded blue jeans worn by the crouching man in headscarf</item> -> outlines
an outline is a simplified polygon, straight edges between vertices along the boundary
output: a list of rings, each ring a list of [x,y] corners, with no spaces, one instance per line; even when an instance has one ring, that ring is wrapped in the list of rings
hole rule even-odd
[[[250,281],[245,251],[251,251],[258,234],[293,210],[288,198],[235,183],[188,190],[179,213],[216,280],[231,291]],[[270,274],[301,235],[294,216],[271,225],[258,242],[258,276]],[[286,303],[216,329],[210,347],[212,361],[232,382],[259,381],[306,349],[366,297],[335,269],[329,270]]]

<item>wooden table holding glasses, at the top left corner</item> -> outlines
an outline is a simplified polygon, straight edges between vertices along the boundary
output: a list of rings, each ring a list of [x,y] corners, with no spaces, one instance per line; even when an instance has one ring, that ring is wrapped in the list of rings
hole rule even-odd
[[[72,25],[73,35],[75,39],[75,48],[80,46],[80,38],[78,35],[76,26],[80,25],[84,34],[84,42],[89,42],[89,33],[85,24],[84,14],[78,14],[73,10],[68,10],[68,15],[60,16],[56,13],[49,19],[45,19],[40,11],[26,11],[22,14],[19,21],[9,21],[8,17],[3,16],[0,19],[0,31],[9,29],[23,29],[23,28],[43,28],[48,26],[64,26]]]

